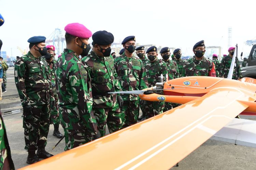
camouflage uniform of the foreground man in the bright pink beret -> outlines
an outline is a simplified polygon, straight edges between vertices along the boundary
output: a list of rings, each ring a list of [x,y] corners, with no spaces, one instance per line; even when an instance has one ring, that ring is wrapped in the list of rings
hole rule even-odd
[[[87,143],[98,133],[93,115],[90,76],[79,55],[65,49],[55,65],[60,123],[64,129],[65,151]]]

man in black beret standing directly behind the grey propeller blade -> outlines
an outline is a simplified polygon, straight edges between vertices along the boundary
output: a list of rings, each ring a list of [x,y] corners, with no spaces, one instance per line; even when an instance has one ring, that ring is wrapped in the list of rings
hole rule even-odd
[[[132,53],[135,50],[135,37],[128,36],[123,42],[125,52],[115,58],[115,69],[123,91],[142,90],[148,88],[143,63]],[[122,95],[124,104],[121,112],[125,114],[125,127],[137,123],[139,116],[139,95]]]

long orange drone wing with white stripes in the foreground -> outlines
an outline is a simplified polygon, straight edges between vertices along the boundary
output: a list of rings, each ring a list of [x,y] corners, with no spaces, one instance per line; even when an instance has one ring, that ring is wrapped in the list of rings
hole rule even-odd
[[[236,88],[213,89],[161,115],[22,169],[169,169],[248,107],[240,101],[255,97]]]

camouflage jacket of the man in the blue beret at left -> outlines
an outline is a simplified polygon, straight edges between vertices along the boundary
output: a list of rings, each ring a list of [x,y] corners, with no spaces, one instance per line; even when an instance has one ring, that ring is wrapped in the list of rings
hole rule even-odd
[[[53,97],[47,63],[30,51],[20,57],[14,67],[14,79],[22,106],[48,104]]]

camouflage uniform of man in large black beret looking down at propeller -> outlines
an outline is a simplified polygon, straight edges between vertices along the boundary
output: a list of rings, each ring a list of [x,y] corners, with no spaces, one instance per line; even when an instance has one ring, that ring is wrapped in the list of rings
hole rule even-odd
[[[117,80],[113,57],[101,57],[91,51],[83,57],[82,63],[90,68],[93,113],[101,136],[105,136],[106,123],[110,133],[122,129],[124,114],[121,114],[117,103],[117,96],[120,94],[108,94],[108,92],[122,91]]]

